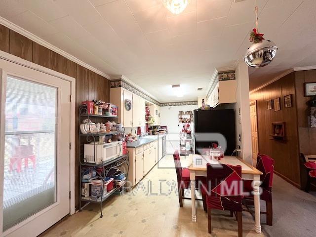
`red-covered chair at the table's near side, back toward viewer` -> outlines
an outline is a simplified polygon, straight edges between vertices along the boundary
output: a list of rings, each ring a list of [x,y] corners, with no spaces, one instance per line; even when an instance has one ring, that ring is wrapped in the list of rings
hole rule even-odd
[[[206,172],[207,187],[203,187],[202,193],[206,195],[208,233],[212,233],[211,210],[228,210],[236,213],[238,237],[242,237],[241,166],[207,164]]]

